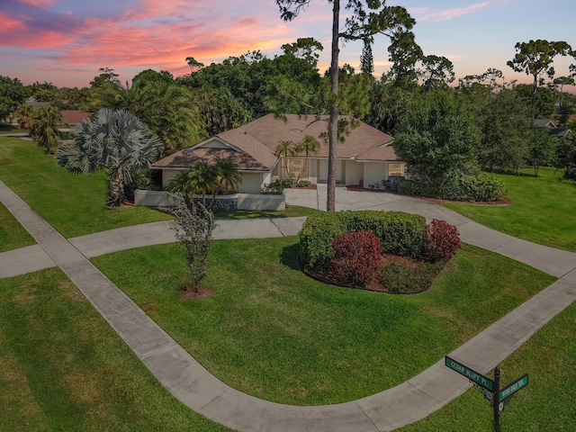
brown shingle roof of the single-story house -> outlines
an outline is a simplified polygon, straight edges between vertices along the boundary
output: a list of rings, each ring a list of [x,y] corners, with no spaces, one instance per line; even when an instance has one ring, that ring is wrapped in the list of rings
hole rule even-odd
[[[269,171],[278,160],[275,148],[281,141],[300,142],[306,135],[320,142],[319,157],[328,157],[329,146],[321,136],[327,132],[328,119],[328,116],[323,116],[321,121],[315,121],[311,115],[287,114],[286,121],[283,121],[276,119],[274,114],[267,114],[158,160],[152,167],[187,167],[220,156],[230,157],[239,170]],[[390,135],[360,122],[347,135],[346,142],[338,146],[338,158],[374,162],[400,160],[390,146],[392,141]]]

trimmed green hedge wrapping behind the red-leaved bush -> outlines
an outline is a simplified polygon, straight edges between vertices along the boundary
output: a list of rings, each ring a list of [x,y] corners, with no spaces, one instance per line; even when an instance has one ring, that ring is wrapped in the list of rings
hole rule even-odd
[[[309,216],[300,232],[300,256],[306,270],[329,271],[334,257],[333,241],[346,232],[369,231],[383,252],[401,257],[420,257],[426,235],[426,219],[403,211],[338,211]]]

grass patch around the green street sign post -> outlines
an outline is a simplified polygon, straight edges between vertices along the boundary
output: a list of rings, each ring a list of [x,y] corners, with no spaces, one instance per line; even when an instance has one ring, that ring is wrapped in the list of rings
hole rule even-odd
[[[500,417],[502,431],[576,430],[576,303],[500,364],[501,383],[528,374]],[[492,410],[475,390],[399,432],[491,432]]]

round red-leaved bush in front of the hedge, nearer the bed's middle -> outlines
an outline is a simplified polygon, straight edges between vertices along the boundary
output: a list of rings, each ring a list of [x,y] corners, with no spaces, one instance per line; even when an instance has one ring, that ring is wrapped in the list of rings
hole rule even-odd
[[[332,247],[329,275],[339,284],[367,288],[377,283],[383,247],[372,232],[346,232],[334,238]]]

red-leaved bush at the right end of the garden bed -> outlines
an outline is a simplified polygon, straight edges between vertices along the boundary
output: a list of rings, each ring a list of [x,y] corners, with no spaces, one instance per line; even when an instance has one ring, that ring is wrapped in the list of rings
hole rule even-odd
[[[455,256],[460,248],[458,229],[446,220],[432,220],[422,242],[422,259],[435,263]]]

